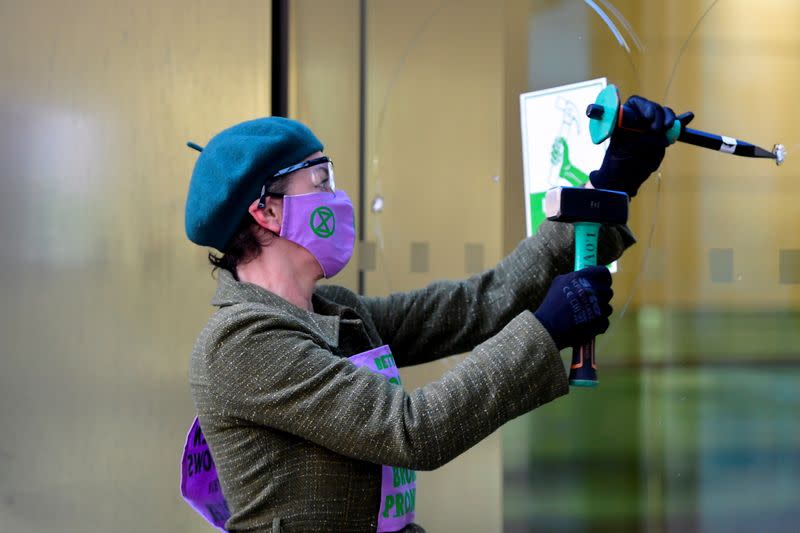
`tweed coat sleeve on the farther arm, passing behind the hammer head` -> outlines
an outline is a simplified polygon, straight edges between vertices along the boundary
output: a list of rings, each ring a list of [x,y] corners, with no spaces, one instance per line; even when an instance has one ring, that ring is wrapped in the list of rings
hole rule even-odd
[[[467,352],[523,310],[538,308],[553,278],[572,270],[572,224],[545,221],[495,268],[464,281],[362,298],[398,366]],[[626,226],[600,232],[600,264],[616,260],[635,242]]]

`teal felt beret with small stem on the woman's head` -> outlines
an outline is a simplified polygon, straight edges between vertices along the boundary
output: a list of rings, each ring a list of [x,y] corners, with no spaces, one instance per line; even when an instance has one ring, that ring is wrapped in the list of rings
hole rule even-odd
[[[242,122],[217,134],[202,149],[192,172],[186,236],[224,252],[264,182],[321,151],[322,143],[310,129],[282,117]]]

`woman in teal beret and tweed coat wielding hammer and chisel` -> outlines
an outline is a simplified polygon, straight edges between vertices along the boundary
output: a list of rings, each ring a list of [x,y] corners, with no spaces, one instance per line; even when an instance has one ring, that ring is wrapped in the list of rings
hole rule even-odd
[[[671,111],[639,100],[642,123],[672,125]],[[595,186],[635,194],[665,145],[637,139],[612,141],[618,157],[606,157]],[[224,493],[204,514],[230,531],[423,531],[413,471],[566,394],[559,350],[605,331],[611,277],[570,273],[572,233],[545,223],[465,281],[387,297],[317,286],[345,266],[355,235],[322,150],[302,124],[264,118],[214,137],[192,175],[187,235],[224,251],[210,254],[218,310],[190,369],[202,426],[190,440],[207,441]],[[601,260],[632,243],[626,228],[605,229]],[[400,386],[397,367],[469,351],[440,379]],[[196,455],[188,474],[184,459],[186,482],[210,456]]]

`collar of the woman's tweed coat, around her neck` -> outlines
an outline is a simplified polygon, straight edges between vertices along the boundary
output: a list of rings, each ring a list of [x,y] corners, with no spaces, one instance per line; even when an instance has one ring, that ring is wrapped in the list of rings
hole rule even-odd
[[[314,312],[306,311],[263,287],[237,281],[230,272],[220,269],[217,291],[211,299],[211,305],[227,307],[242,303],[263,304],[276,314],[288,314],[307,324],[331,347],[339,345],[339,321],[349,318],[349,314],[353,313],[350,308],[336,304],[317,291],[311,297]]]

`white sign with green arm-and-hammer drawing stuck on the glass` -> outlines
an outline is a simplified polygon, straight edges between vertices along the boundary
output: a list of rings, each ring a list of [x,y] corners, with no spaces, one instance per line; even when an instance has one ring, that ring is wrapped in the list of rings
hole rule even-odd
[[[603,162],[608,141],[592,143],[586,107],[605,86],[598,78],[520,95],[528,236],[545,218],[548,189],[580,187]]]

